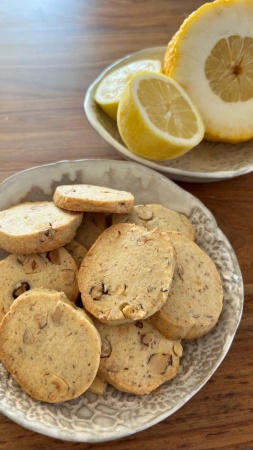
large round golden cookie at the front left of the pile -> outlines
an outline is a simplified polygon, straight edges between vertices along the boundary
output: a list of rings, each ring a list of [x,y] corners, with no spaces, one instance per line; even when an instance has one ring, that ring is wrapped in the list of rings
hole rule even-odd
[[[0,358],[37,400],[54,403],[80,396],[97,374],[100,353],[96,328],[60,292],[25,292],[0,325]]]

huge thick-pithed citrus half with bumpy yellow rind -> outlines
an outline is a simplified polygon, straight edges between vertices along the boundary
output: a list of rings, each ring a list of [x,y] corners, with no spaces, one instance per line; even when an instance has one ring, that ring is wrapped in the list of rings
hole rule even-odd
[[[163,72],[198,106],[205,139],[253,138],[253,1],[216,0],[193,12],[169,42]]]

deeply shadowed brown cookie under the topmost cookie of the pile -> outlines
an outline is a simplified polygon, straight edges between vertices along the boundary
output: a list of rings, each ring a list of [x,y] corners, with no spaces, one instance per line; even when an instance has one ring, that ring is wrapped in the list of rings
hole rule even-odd
[[[87,250],[94,244],[98,236],[106,229],[106,215],[103,213],[84,213],[75,239]]]

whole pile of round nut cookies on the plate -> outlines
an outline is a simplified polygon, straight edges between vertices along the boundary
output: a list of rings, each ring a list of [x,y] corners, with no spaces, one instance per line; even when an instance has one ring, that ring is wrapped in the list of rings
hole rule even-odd
[[[0,358],[42,401],[107,382],[148,394],[178,373],[181,340],[207,334],[221,312],[219,275],[190,221],[134,206],[129,192],[59,186],[51,202],[0,212],[0,247],[10,253]]]

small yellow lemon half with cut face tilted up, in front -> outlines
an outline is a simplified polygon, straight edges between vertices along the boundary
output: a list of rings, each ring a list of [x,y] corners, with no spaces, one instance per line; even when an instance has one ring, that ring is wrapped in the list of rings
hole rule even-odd
[[[167,160],[203,138],[202,118],[182,87],[154,72],[133,75],[118,107],[118,130],[127,148],[143,158]]]

